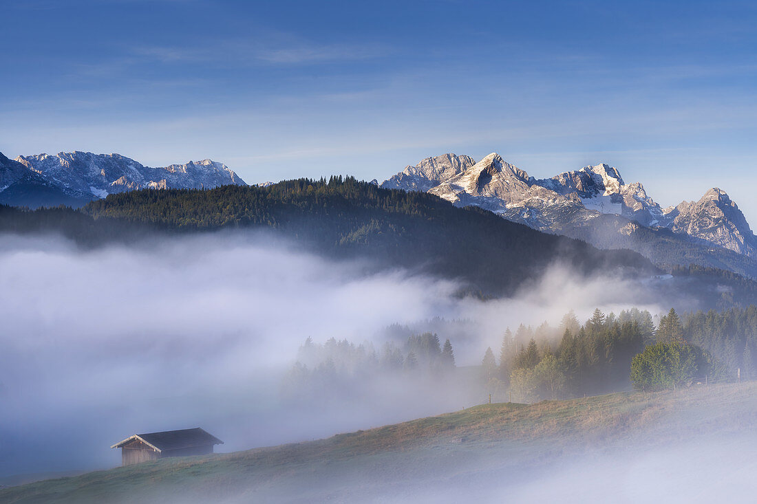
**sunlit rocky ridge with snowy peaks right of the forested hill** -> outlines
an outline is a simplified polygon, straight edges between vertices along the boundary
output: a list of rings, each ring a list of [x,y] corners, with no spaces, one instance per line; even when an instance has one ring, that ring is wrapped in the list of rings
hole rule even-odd
[[[414,167],[406,167],[382,187],[419,190],[438,182],[439,170],[434,176],[425,176],[428,160],[449,160],[441,172],[448,178],[427,189],[429,193],[456,206],[475,205],[491,210],[540,231],[585,238],[593,219],[610,214],[628,219],[625,223],[619,221],[620,234],[633,234],[637,225],[666,229],[708,246],[757,257],[757,238],[749,223],[737,204],[718,188],[707,191],[699,201],[662,208],[646,194],[640,182],[626,184],[618,169],[607,164],[584,166],[550,179],[534,179],[497,153],[472,166],[467,166],[471,160],[468,156],[427,158]],[[412,183],[404,184],[410,174]]]

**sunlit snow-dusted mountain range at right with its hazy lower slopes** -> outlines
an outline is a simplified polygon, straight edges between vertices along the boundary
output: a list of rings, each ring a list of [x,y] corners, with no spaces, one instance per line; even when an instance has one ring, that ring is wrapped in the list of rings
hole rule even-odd
[[[478,163],[456,154],[429,157],[381,186],[428,191],[456,206],[475,205],[543,232],[637,250],[656,263],[702,263],[757,275],[757,238],[737,204],[719,188],[699,201],[663,208],[640,182],[627,184],[607,164],[535,179],[496,153]],[[651,250],[667,247],[678,247],[680,259],[671,260],[669,250]]]

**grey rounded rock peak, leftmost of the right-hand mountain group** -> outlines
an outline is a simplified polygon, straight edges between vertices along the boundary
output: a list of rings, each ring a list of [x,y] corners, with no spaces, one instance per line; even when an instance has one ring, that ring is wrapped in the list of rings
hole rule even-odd
[[[469,156],[444,154],[426,157],[416,166],[405,166],[400,173],[382,182],[381,186],[385,189],[425,192],[473,165],[475,160]]]

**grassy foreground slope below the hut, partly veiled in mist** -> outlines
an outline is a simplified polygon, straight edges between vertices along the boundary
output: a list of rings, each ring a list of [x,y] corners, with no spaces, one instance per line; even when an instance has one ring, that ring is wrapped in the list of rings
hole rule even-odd
[[[475,406],[325,440],[11,487],[0,501],[725,499],[754,490],[755,393],[757,383],[720,384]]]

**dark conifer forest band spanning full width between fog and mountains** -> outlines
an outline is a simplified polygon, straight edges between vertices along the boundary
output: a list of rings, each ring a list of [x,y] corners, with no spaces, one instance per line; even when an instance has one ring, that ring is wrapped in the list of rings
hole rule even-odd
[[[457,208],[431,194],[382,189],[352,177],[297,179],[266,188],[146,189],[110,194],[80,210],[0,206],[0,232],[54,232],[83,247],[228,230],[266,231],[328,257],[369,257],[376,267],[462,280],[464,291],[484,297],[513,294],[553,263],[579,277],[660,272],[629,250],[597,250],[478,207]],[[671,254],[678,254],[677,243],[671,242]],[[757,303],[757,282],[723,269],[680,266],[689,254],[687,247],[681,250],[684,256],[667,267],[675,281],[654,286],[659,297],[673,302],[684,293],[702,308],[719,310]]]

